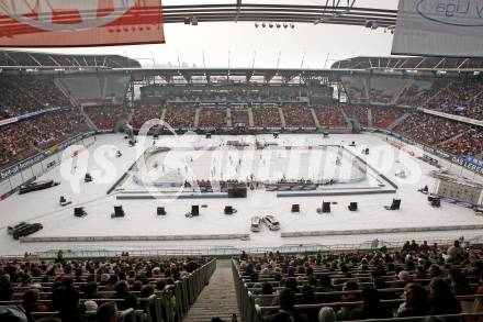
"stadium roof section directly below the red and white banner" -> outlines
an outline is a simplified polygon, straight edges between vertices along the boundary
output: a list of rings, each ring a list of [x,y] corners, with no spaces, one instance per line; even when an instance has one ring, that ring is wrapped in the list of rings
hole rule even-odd
[[[139,62],[120,55],[61,55],[0,51],[0,68],[141,68]]]

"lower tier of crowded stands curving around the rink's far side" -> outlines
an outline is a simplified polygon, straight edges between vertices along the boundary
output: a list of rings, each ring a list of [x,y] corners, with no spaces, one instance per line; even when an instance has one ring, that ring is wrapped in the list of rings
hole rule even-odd
[[[134,108],[132,124],[139,127],[144,122],[153,118],[162,116],[161,106],[136,106]],[[303,112],[300,112],[303,109]],[[315,115],[321,126],[344,127],[347,126],[340,107],[314,107]],[[482,130],[470,124],[430,115],[422,112],[411,112],[398,108],[342,106],[348,118],[356,118],[362,126],[369,126],[369,109],[371,111],[372,126],[387,129],[404,113],[409,116],[397,124],[393,131],[413,138],[416,142],[440,147],[452,155],[481,155]],[[113,130],[116,122],[127,119],[128,110],[124,107],[89,107],[85,108],[87,115],[99,130]],[[165,121],[173,127],[194,126],[196,108],[191,106],[168,104]],[[278,108],[256,107],[251,109],[256,126],[281,126]],[[283,106],[282,111],[287,126],[315,126],[312,113],[308,109],[299,106]],[[231,108],[232,122],[249,123],[248,111]],[[224,127],[226,126],[226,108],[201,109],[199,126]],[[56,124],[56,126],[53,126]],[[58,126],[60,124],[60,126]],[[50,129],[56,129],[50,131]],[[4,167],[13,162],[21,160],[36,152],[48,148],[75,134],[88,131],[82,115],[75,109],[49,112],[33,119],[2,126],[0,133],[1,166]],[[29,137],[20,136],[19,133],[29,133]]]

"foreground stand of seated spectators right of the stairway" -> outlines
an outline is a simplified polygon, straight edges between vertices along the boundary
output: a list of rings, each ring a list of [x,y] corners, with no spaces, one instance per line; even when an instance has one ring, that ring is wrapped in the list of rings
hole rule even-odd
[[[460,242],[447,247],[413,241],[396,249],[324,254],[243,253],[233,260],[242,321],[326,321],[318,319],[327,311],[330,321],[482,315],[481,248]]]

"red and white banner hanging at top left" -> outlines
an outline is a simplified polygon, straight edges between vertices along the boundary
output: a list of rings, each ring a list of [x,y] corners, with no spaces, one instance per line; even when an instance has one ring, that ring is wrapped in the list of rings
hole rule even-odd
[[[164,42],[160,0],[0,0],[0,47]]]

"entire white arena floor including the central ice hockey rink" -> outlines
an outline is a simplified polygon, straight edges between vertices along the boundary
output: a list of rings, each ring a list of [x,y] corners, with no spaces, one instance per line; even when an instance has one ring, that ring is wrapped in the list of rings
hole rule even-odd
[[[479,236],[482,230],[454,230],[460,225],[482,225],[483,218],[461,206],[442,202],[433,208],[427,196],[417,192],[427,185],[429,192],[435,179],[429,176],[436,167],[418,159],[423,152],[416,146],[387,141],[381,134],[280,134],[247,136],[200,135],[138,137],[138,144],[128,146],[123,134],[98,135],[96,142],[82,149],[74,146],[64,152],[64,162],[40,179],[54,179],[59,186],[26,195],[13,195],[0,201],[2,214],[0,251],[5,255],[49,249],[187,249],[209,247],[279,247],[300,244],[356,244],[380,241],[448,240],[464,235]],[[246,144],[233,148],[229,141]],[[356,146],[349,146],[352,142]],[[265,146],[265,148],[256,148]],[[342,146],[340,152],[339,146]],[[144,157],[147,149],[169,147],[165,153]],[[361,151],[368,147],[369,155]],[[81,152],[72,157],[75,149]],[[115,153],[120,151],[121,157]],[[340,157],[338,163],[338,157]],[[355,167],[362,159],[366,171]],[[435,157],[437,158],[437,157]],[[143,160],[139,166],[139,160]],[[132,168],[133,164],[136,164]],[[445,164],[449,171],[482,182],[482,178]],[[128,169],[132,168],[130,171]],[[143,174],[144,171],[144,174]],[[401,173],[405,176],[400,176]],[[90,173],[92,182],[85,182]],[[387,180],[381,180],[382,174]],[[126,176],[124,176],[126,175]],[[139,185],[135,176],[143,177]],[[338,182],[321,186],[315,192],[330,196],[280,197],[280,191],[265,188],[248,189],[247,198],[228,199],[217,192],[200,193],[191,187],[179,187],[180,180],[239,179],[250,177],[260,181],[305,179],[324,181],[337,178]],[[117,182],[121,177],[125,177]],[[379,179],[378,179],[379,178]],[[115,185],[117,182],[117,185]],[[162,185],[169,182],[170,185]],[[394,184],[397,188],[391,186]],[[113,188],[108,195],[108,190]],[[194,189],[194,191],[193,191]],[[378,190],[379,189],[379,190]],[[375,191],[374,193],[364,192]],[[337,191],[351,191],[351,195]],[[356,192],[360,193],[356,193]],[[379,193],[379,192],[380,193]],[[287,191],[284,191],[287,193]],[[292,192],[289,192],[289,195]],[[150,196],[151,199],[120,199],[121,196]],[[72,201],[59,206],[59,197]],[[181,197],[181,198],[180,198]],[[210,198],[209,198],[210,197]],[[215,197],[215,198],[212,198]],[[385,210],[392,200],[401,199],[401,209]],[[330,213],[317,213],[322,201],[332,202]],[[349,211],[350,202],[358,202],[357,211]],[[191,206],[200,206],[200,215],[187,218]],[[300,204],[300,213],[291,206]],[[111,219],[114,206],[122,206],[124,218]],[[224,214],[224,207],[237,210]],[[74,208],[83,207],[88,215],[74,216]],[[165,207],[167,214],[157,215],[156,208]],[[272,214],[280,222],[280,231],[250,232],[250,218]],[[63,242],[20,242],[7,233],[7,226],[21,221],[40,222],[44,229],[30,237],[72,237]],[[355,230],[414,229],[448,226],[431,232],[360,234]],[[452,227],[452,229],[450,229]],[[346,234],[324,235],[324,231],[351,231]],[[315,236],[296,236],[297,233],[318,232]],[[282,233],[294,233],[292,237]],[[143,236],[187,236],[240,234],[244,238],[143,241]],[[74,237],[139,236],[139,241],[78,242]]]

